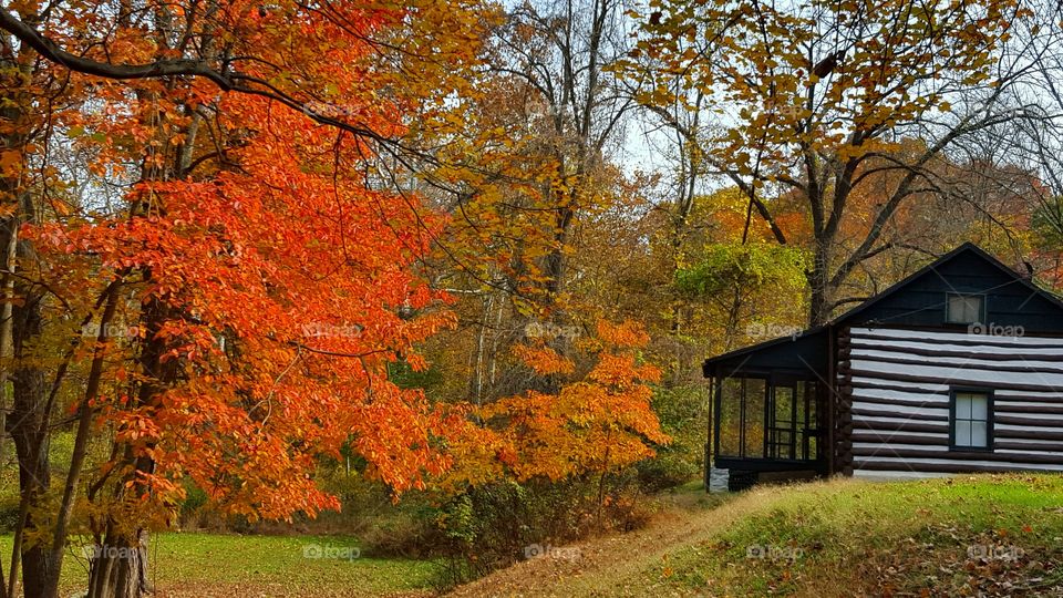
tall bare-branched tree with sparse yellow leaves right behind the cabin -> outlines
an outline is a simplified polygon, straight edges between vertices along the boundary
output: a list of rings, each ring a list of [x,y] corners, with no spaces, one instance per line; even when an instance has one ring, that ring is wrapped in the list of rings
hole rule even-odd
[[[844,305],[838,289],[861,262],[889,251],[898,210],[932,192],[928,166],[985,127],[1051,113],[1013,110],[1031,66],[1057,44],[1059,7],[1013,0],[771,4],[662,1],[644,16],[640,50],[696,89],[719,118],[706,159],[741,183],[754,214],[788,243],[772,196],[798,194],[813,226],[808,319]],[[1033,27],[1033,23],[1040,27]],[[1020,23],[1026,23],[1020,27]],[[1022,33],[1019,35],[1016,33]],[[695,52],[681,40],[705,40]],[[682,100],[658,86],[643,101]],[[922,152],[898,153],[906,137]],[[874,164],[873,164],[874,163]],[[850,198],[879,172],[900,173],[857,238],[839,234]]]

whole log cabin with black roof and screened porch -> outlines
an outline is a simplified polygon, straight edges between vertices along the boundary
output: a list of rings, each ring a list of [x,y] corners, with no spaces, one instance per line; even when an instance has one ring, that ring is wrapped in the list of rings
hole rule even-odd
[[[1063,471],[1063,301],[972,244],[703,372],[711,491]]]

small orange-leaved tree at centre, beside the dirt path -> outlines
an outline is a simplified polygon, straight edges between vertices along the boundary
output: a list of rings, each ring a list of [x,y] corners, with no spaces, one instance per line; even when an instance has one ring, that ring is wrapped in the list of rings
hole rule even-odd
[[[557,392],[529,390],[477,411],[484,429],[455,442],[447,484],[479,484],[503,475],[519,481],[605,474],[653,456],[669,437],[650,406],[660,370],[640,359],[649,336],[636,322],[600,321],[580,342],[592,365],[538,341],[515,352]]]

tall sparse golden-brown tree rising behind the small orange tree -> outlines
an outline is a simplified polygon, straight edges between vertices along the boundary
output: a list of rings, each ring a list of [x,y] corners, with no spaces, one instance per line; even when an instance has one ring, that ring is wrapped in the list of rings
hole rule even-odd
[[[620,187],[613,159],[634,104],[611,69],[630,47],[629,27],[617,0],[525,1],[507,6],[487,39],[479,93],[467,104],[472,134],[443,159],[466,162],[441,199],[453,214],[446,238],[464,259],[438,277],[467,299],[477,399],[530,382],[505,367],[529,326],[595,321],[578,313],[567,285],[578,276],[580,226]]]

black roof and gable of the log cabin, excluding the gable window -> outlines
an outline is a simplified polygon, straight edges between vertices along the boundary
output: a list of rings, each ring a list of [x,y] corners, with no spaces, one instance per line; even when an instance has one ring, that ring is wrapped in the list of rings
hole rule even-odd
[[[720,369],[791,368],[795,363],[808,369],[818,368],[825,364],[828,328],[852,324],[941,326],[945,322],[941,297],[948,291],[993,293],[1004,321],[983,323],[1063,333],[1063,300],[1020,276],[981,247],[964,243],[827,324],[710,358],[704,362],[703,373],[708,377]],[[772,365],[775,363],[778,365]]]

